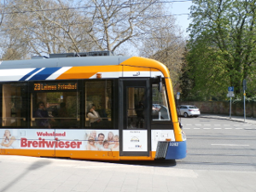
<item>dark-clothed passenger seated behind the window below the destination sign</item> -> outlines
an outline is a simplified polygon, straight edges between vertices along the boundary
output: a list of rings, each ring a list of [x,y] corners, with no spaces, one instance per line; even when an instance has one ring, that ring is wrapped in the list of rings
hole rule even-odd
[[[38,109],[34,113],[36,119],[37,126],[39,128],[50,128],[49,124],[49,114],[45,109],[44,102],[38,102]]]

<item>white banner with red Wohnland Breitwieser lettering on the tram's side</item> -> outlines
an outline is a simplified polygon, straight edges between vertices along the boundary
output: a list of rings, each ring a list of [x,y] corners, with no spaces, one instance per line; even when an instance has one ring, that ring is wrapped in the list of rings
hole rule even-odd
[[[1,129],[0,148],[119,151],[118,130]]]

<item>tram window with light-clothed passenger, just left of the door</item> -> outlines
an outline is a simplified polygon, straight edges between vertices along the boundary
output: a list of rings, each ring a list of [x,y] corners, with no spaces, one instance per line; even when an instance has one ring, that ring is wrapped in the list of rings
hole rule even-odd
[[[112,129],[111,80],[85,82],[85,126]]]

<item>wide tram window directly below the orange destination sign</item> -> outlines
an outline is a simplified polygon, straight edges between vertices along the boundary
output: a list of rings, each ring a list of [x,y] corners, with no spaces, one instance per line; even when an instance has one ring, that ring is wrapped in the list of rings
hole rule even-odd
[[[32,94],[32,126],[37,128],[79,128],[78,91],[51,90]]]

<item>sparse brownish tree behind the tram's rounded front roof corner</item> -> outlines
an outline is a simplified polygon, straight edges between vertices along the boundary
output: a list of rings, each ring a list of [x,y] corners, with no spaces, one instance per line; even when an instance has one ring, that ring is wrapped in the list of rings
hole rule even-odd
[[[168,9],[160,8],[157,15],[171,15]],[[140,55],[160,61],[170,71],[172,84],[178,87],[183,63],[183,51],[185,40],[180,27],[177,26],[173,16],[155,17],[150,30],[143,36],[142,44],[139,44]]]

